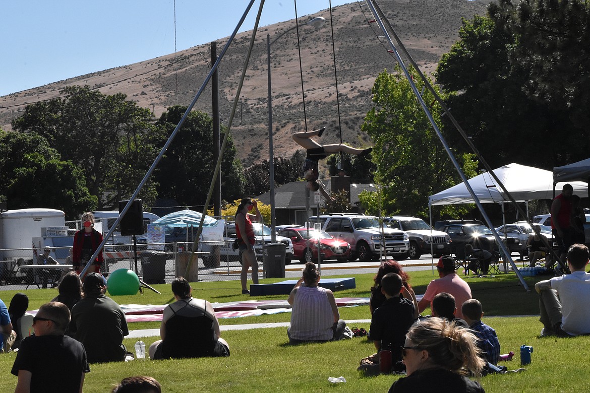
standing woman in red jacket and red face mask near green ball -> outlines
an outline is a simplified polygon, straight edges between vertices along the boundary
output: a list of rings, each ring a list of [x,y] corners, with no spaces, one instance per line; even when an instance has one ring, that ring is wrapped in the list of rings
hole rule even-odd
[[[94,255],[96,249],[103,241],[103,235],[94,230],[94,214],[86,212],[82,214],[83,229],[78,230],[74,235],[74,250],[72,255],[72,265],[78,275],[81,273],[90,257]],[[100,273],[100,266],[103,264],[103,251],[93,261],[94,269],[90,267],[86,273]]]

